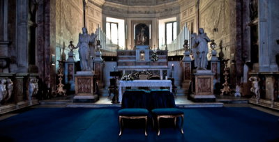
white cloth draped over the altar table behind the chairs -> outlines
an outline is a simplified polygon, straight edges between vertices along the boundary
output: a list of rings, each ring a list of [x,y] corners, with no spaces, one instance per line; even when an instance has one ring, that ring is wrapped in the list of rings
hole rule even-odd
[[[171,80],[133,80],[119,81],[119,102],[122,101],[122,87],[169,87],[172,92]]]

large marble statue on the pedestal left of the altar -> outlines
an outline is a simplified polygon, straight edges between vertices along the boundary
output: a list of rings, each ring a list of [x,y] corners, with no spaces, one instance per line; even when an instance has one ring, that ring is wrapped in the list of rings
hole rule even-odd
[[[79,48],[80,67],[82,68],[82,71],[92,70],[89,43],[95,45],[95,40],[97,36],[98,35],[94,33],[91,33],[91,35],[89,35],[87,33],[87,29],[85,27],[82,28],[82,33],[80,33],[79,42],[77,43],[77,47],[75,47]]]

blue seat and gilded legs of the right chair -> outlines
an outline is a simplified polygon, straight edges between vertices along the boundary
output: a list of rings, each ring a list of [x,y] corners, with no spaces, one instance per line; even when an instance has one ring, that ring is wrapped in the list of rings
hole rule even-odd
[[[176,118],[181,117],[181,133],[183,134],[183,120],[184,113],[176,108],[163,108],[163,109],[153,109],[153,116],[157,118],[158,125],[158,136],[160,136],[160,118],[174,118],[174,126],[176,126]]]

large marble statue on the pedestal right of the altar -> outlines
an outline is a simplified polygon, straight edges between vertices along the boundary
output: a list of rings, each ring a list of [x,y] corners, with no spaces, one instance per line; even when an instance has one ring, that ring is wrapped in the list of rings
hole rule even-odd
[[[207,54],[209,53],[207,42],[211,40],[206,36],[202,28],[199,28],[199,35],[195,36],[195,34],[193,34],[192,38],[192,44],[196,45],[194,58],[195,60],[197,59],[197,61],[195,61],[195,67],[197,70],[206,70],[208,64]]]

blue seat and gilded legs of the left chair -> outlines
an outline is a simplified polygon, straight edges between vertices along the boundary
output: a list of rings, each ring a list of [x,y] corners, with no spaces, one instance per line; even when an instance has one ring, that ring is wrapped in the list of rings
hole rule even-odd
[[[126,119],[145,119],[145,136],[147,136],[146,127],[147,127],[147,116],[149,111],[147,109],[140,109],[140,108],[129,108],[129,109],[121,109],[119,111],[119,126],[120,132],[119,136],[122,134],[122,127],[123,127],[123,118]]]

